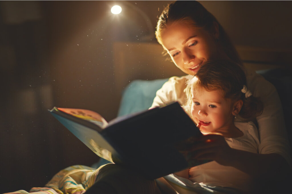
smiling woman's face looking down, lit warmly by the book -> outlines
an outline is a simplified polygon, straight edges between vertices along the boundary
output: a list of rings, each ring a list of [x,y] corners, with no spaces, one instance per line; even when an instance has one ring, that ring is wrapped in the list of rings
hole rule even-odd
[[[215,37],[202,28],[176,22],[161,34],[161,41],[175,65],[194,75],[205,61],[215,58]]]

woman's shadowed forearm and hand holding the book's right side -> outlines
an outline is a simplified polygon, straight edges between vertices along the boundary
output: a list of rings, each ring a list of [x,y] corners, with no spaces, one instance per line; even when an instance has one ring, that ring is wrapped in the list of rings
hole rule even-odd
[[[211,159],[221,165],[232,166],[247,173],[260,184],[281,180],[290,173],[287,161],[279,154],[256,154],[231,148],[224,137],[217,134],[201,136],[193,146],[193,158]]]

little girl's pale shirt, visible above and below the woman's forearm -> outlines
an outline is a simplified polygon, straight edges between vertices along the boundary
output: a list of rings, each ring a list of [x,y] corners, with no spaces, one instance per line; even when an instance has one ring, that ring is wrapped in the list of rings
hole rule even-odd
[[[243,132],[243,136],[225,138],[228,145],[234,149],[258,153],[260,141],[256,125],[253,122],[234,122],[234,124]],[[215,161],[190,168],[189,179],[194,183],[203,183],[207,186],[231,187],[243,192],[252,191],[252,179],[249,175]]]

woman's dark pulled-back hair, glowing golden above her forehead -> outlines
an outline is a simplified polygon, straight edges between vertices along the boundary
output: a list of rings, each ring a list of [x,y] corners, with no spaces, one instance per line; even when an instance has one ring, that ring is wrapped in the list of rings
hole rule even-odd
[[[219,30],[218,43],[222,46],[222,49],[232,61],[242,65],[240,57],[223,27],[219,24],[217,19],[199,2],[175,1],[164,8],[163,12],[159,16],[155,31],[157,41],[161,45],[161,34],[168,26],[175,22],[203,28],[210,34],[214,34],[214,23],[217,23]]]

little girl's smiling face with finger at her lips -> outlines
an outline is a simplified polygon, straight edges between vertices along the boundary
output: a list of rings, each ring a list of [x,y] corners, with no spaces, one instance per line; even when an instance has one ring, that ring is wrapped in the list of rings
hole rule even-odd
[[[200,123],[203,133],[230,129],[233,124],[232,102],[223,98],[219,90],[192,89],[192,118]]]

